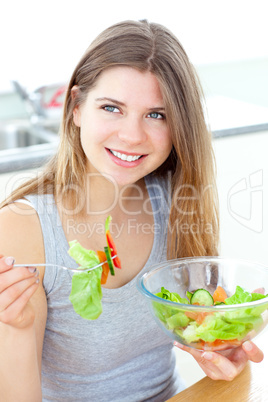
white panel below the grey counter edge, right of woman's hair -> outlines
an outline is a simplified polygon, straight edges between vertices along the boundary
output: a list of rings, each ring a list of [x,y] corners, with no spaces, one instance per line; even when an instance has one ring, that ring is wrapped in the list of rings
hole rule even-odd
[[[268,132],[217,139],[221,254],[268,266]]]

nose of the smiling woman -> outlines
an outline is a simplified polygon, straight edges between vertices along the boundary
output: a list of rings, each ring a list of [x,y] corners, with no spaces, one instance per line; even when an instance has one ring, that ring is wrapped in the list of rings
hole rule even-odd
[[[128,145],[139,145],[146,141],[144,122],[137,118],[126,118],[118,131],[119,139]]]

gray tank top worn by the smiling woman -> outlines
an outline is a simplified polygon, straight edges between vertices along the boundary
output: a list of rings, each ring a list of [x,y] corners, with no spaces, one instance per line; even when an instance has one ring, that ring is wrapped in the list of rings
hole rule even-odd
[[[166,260],[169,212],[167,183],[146,177],[155,236],[142,272]],[[36,209],[46,262],[77,267],[52,195],[26,197]],[[176,372],[172,341],[151,317],[136,278],[117,289],[103,288],[97,320],[77,315],[69,301],[72,274],[47,267],[48,317],[42,357],[43,401],[163,402],[184,388]]]

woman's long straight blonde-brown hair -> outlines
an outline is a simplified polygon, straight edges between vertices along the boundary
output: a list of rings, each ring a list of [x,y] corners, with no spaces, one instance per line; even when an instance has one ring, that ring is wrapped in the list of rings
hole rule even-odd
[[[56,196],[79,183],[83,189],[86,156],[73,110],[82,104],[102,71],[113,66],[150,71],[164,99],[173,149],[155,172],[171,172],[169,258],[216,255],[219,237],[214,156],[204,118],[198,77],[178,39],[165,27],[143,21],[124,21],[103,31],[75,68],[66,92],[57,154],[41,175],[31,179],[2,203],[32,193]],[[74,86],[78,96],[72,97]]]

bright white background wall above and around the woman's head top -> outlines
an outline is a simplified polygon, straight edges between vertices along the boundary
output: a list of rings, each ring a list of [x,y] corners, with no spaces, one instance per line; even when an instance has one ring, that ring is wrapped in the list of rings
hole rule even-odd
[[[11,0],[0,5],[0,91],[65,82],[107,26],[147,18],[169,27],[194,64],[268,56],[266,0]]]

